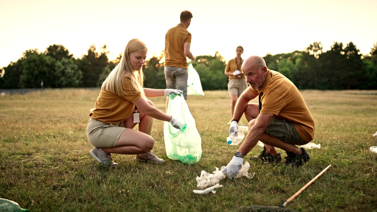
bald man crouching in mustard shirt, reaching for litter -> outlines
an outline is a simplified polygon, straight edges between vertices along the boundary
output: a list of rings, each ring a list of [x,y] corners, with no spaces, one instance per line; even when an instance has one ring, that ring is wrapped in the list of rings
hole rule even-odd
[[[242,74],[250,85],[238,98],[229,134],[238,132],[242,114],[249,122],[249,132],[228,165],[222,169],[231,174],[239,172],[245,155],[258,141],[264,143],[263,151],[250,160],[281,162],[275,147],[287,153],[284,163],[299,167],[309,161],[310,155],[303,148],[314,138],[315,124],[310,111],[296,86],[284,75],[267,68],[262,57],[251,56],[242,65]],[[249,103],[259,97],[259,105]]]

